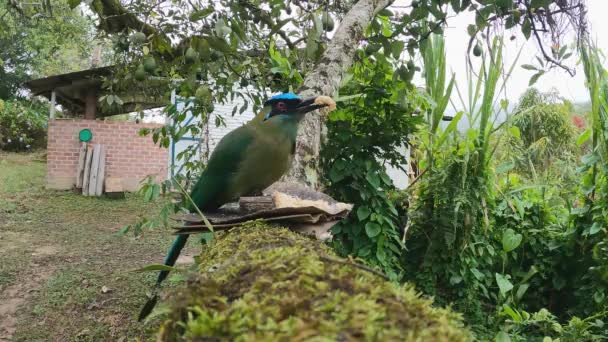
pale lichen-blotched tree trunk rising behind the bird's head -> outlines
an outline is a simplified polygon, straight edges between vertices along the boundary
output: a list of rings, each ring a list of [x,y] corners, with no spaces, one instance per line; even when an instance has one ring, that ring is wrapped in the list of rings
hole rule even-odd
[[[336,34],[314,70],[304,80],[298,94],[334,96],[344,73],[350,69],[365,28],[373,17],[390,5],[389,0],[360,0],[346,13]],[[296,155],[286,181],[296,181],[312,188],[319,186],[319,150],[323,118],[307,115],[298,132]]]

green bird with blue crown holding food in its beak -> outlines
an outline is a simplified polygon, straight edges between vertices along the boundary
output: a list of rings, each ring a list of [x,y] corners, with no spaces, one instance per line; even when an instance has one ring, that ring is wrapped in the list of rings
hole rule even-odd
[[[202,212],[212,211],[241,196],[259,193],[276,182],[291,166],[298,125],[306,113],[323,107],[333,110],[335,106],[327,96],[302,99],[283,93],[271,97],[253,120],[220,140],[190,193],[193,203],[188,203],[187,209],[196,212],[196,205]],[[187,240],[188,235],[179,235],[174,240],[165,265],[175,265]],[[168,274],[164,270],[159,273],[156,289]],[[157,300],[155,294],[142,308],[139,320],[150,314]]]

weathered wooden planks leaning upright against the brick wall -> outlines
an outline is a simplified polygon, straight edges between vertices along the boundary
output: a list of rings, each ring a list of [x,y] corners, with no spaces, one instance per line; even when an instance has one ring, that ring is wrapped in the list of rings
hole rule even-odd
[[[103,145],[82,143],[76,173],[76,188],[85,196],[101,196],[106,176],[106,151]]]

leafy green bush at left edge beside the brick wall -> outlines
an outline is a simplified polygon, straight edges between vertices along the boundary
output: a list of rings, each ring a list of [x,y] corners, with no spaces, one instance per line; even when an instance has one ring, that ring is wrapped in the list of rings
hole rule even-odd
[[[23,100],[0,100],[0,150],[25,151],[46,145],[44,108]]]

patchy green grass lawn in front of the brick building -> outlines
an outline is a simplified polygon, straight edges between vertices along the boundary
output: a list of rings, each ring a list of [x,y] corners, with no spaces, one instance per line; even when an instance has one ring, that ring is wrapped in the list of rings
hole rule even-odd
[[[157,325],[136,317],[156,274],[130,271],[173,238],[116,232],[160,204],[45,190],[45,174],[41,153],[0,152],[0,341],[153,340]]]

